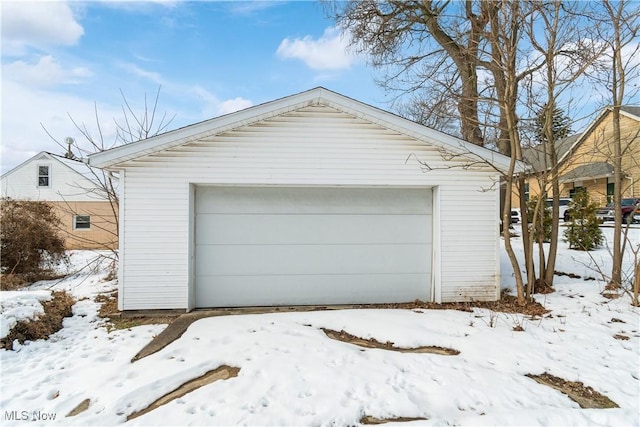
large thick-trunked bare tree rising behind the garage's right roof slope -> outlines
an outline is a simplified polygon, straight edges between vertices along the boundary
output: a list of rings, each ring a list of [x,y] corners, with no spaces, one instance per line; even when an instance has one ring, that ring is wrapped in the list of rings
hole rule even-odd
[[[483,33],[499,3],[364,0],[327,2],[352,47],[386,71],[381,85],[401,94],[435,90],[455,100],[463,139],[484,144],[478,110]],[[446,79],[446,80],[445,80]]]

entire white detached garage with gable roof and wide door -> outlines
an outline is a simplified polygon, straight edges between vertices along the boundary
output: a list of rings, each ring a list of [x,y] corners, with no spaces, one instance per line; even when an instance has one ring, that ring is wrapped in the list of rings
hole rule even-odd
[[[121,310],[496,300],[509,161],[324,88],[89,157]]]

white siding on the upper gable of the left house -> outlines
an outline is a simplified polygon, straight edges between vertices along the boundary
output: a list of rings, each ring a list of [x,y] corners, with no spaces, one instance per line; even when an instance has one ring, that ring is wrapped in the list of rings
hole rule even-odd
[[[38,166],[49,166],[49,186],[38,186]],[[95,202],[93,182],[46,154],[36,156],[2,176],[3,197],[48,202]]]

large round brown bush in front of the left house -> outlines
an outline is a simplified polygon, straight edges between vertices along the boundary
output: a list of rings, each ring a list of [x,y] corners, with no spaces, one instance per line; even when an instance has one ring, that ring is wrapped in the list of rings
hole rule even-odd
[[[0,206],[0,244],[3,274],[38,280],[66,261],[60,219],[46,202],[3,198]],[[3,280],[4,281],[4,280]]]

